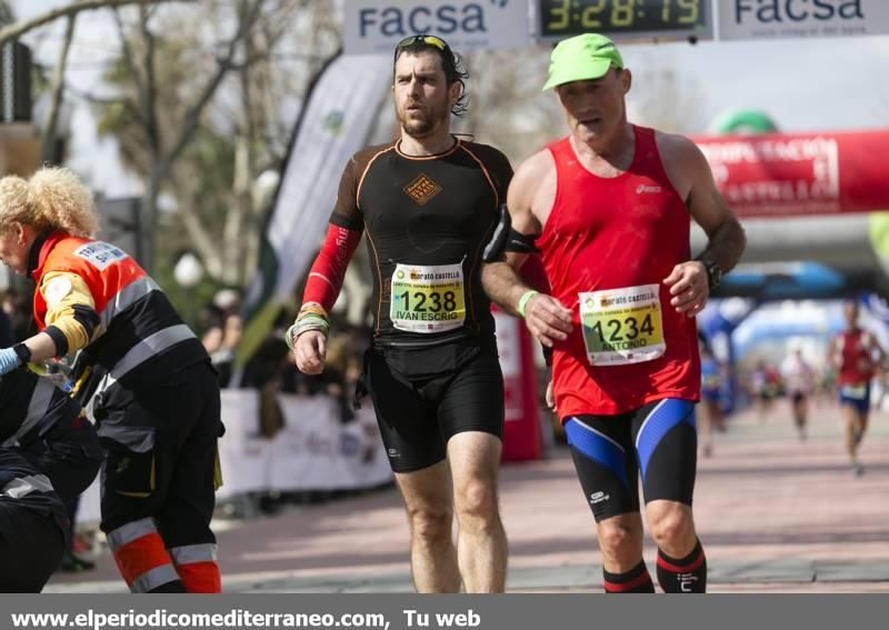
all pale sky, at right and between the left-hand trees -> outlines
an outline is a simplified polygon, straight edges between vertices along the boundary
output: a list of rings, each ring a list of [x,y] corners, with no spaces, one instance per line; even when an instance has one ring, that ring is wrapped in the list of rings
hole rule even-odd
[[[19,19],[64,3],[11,1]],[[41,62],[54,62],[62,29],[59,22],[26,38]],[[69,84],[82,91],[100,90],[102,63],[116,53],[116,46],[108,11],[82,13],[71,50]],[[696,114],[702,120],[713,121],[729,110],[758,109],[788,132],[889,127],[889,36],[620,48],[630,69],[671,70],[680,89],[687,87],[693,96]],[[138,189],[138,182],[114,163],[113,142],[96,137],[90,118],[83,107],[73,111],[72,167],[110,196]]]

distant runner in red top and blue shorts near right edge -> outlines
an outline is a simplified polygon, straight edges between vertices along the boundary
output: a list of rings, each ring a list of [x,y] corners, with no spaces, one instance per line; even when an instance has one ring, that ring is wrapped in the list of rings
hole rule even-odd
[[[842,314],[846,330],[831,340],[828,358],[837,369],[837,393],[846,424],[846,451],[857,477],[865,472],[865,467],[858,461],[858,449],[868,428],[870,380],[885,353],[873,336],[858,327],[858,302],[846,302]]]

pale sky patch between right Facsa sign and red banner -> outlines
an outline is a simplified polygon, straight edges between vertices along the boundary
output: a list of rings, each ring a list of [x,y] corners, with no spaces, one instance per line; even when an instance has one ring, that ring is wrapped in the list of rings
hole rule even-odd
[[[887,2],[889,9],[889,2]],[[672,68],[712,120],[743,108],[783,131],[889,127],[889,36],[622,46],[629,68]]]

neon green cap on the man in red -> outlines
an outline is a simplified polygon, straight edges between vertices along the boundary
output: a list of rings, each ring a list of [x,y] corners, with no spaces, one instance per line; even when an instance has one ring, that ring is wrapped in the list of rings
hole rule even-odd
[[[583,33],[563,39],[552,49],[549,80],[543,90],[571,81],[601,79],[611,66],[623,68],[623,58],[607,37]]]

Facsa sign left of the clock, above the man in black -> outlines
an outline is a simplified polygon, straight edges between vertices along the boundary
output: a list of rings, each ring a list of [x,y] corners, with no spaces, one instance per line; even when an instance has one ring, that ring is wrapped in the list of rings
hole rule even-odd
[[[343,12],[347,54],[391,54],[418,33],[457,52],[531,44],[528,0],[347,0]]]

